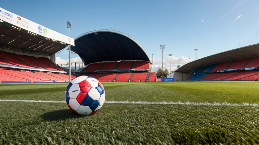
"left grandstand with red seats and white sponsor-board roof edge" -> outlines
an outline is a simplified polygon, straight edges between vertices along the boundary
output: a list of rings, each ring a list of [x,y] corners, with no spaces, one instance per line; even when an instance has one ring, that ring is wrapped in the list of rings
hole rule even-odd
[[[67,72],[55,63],[56,52],[74,45],[74,39],[0,10],[0,83],[68,82]]]

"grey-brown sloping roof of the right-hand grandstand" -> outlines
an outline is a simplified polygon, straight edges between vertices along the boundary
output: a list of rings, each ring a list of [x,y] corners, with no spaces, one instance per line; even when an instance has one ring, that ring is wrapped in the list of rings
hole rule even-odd
[[[211,65],[214,63],[248,58],[248,57],[255,57],[255,56],[259,56],[259,44],[249,45],[238,49],[233,49],[233,50],[217,53],[214,55],[210,55],[208,57],[204,57],[204,58],[189,62],[183,65],[182,67],[180,67],[179,69],[177,69],[176,71],[181,73],[191,73],[195,69],[198,69],[200,67],[204,67],[207,65]]]

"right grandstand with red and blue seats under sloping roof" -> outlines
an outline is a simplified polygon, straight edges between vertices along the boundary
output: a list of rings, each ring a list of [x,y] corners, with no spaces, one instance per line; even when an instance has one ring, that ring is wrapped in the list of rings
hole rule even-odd
[[[259,44],[189,62],[171,76],[175,81],[258,81]]]

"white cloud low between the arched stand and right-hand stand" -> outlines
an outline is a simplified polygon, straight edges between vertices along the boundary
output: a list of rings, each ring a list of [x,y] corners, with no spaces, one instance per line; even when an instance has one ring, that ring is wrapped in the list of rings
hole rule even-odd
[[[171,71],[174,70],[174,69],[177,69],[177,65],[183,66],[186,63],[189,63],[191,61],[193,61],[193,60],[190,59],[190,58],[186,58],[184,56],[181,56],[181,57],[178,57],[178,58],[176,58],[174,56],[171,56]],[[163,63],[164,63],[164,69],[167,68],[168,71],[170,71],[170,57],[169,56],[163,59]],[[160,58],[155,59],[153,57],[152,70],[157,71],[158,68],[162,69],[162,59],[160,59]]]

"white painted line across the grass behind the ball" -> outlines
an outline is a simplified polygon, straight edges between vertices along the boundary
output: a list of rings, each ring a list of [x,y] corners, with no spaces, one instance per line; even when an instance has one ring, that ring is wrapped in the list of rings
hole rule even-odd
[[[66,101],[42,101],[42,100],[3,100],[0,101],[6,102],[43,102],[43,103],[66,103]],[[259,106],[256,103],[196,103],[196,102],[147,102],[147,101],[105,101],[104,103],[114,103],[114,104],[170,104],[170,105],[207,105],[207,106]]]

